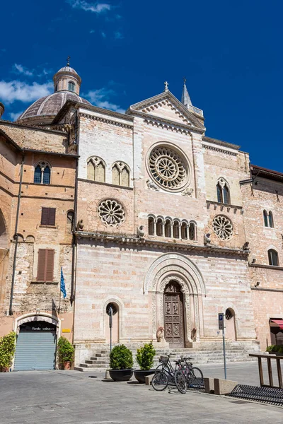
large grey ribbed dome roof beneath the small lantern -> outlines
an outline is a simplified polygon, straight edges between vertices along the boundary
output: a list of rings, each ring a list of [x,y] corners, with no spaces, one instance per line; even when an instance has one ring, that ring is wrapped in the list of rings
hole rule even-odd
[[[27,119],[28,121],[36,120],[40,122],[40,117],[42,117],[42,121],[44,120],[47,122],[48,120],[48,122],[51,123],[52,119],[57,115],[67,100],[74,100],[74,102],[91,105],[88,100],[81,98],[76,93],[72,93],[67,90],[57,91],[56,93],[46,95],[45,97],[36,100],[33,105],[30,105],[28,109],[18,117],[17,121],[24,121]]]

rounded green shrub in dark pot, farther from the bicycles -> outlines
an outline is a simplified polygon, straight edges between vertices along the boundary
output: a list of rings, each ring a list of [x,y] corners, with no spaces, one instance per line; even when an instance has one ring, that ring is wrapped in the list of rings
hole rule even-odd
[[[127,382],[133,375],[132,365],[132,352],[125,345],[112,348],[109,374],[115,382]]]

